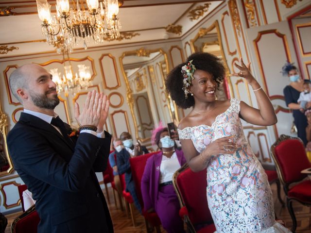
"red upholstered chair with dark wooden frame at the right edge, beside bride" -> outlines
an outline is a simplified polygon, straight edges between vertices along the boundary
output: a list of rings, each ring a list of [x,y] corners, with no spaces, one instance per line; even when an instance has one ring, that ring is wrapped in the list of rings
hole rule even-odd
[[[303,142],[296,137],[282,134],[271,146],[278,177],[283,184],[288,211],[293,220],[292,232],[296,230],[296,217],[292,201],[311,206],[311,181],[305,179],[302,170],[311,167]],[[299,183],[297,183],[299,182]],[[294,184],[295,183],[295,184]]]

